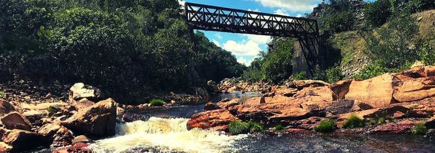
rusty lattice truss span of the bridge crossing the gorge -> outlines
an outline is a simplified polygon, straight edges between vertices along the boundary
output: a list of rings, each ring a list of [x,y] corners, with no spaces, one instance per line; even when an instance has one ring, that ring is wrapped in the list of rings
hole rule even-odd
[[[279,37],[317,37],[313,19],[186,3],[185,17],[193,29],[268,35]]]

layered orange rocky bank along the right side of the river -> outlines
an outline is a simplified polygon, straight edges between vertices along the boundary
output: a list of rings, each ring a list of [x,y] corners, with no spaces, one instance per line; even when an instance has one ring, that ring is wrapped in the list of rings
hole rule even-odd
[[[319,81],[296,81],[294,88],[275,87],[263,97],[222,100],[208,111],[195,114],[188,129],[228,132],[234,120],[253,121],[288,132],[314,131],[322,120],[335,120],[338,127],[350,116],[370,121],[390,118],[379,124],[336,132],[404,134],[417,123],[434,129],[435,66],[415,67],[386,73],[368,80],[345,80],[329,85]],[[211,105],[211,104],[209,104]],[[433,130],[429,130],[430,132]]]

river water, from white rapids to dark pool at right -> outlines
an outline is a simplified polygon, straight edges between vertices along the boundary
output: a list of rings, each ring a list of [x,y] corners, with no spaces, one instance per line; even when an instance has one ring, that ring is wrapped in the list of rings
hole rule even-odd
[[[250,98],[258,93],[222,94],[213,99]],[[435,152],[435,141],[414,135],[247,134],[186,130],[204,105],[177,106],[139,114],[149,118],[117,124],[117,135],[98,140],[94,152]]]

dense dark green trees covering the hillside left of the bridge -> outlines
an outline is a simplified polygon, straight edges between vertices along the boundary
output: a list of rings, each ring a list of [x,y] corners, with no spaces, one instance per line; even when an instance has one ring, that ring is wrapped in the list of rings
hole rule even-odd
[[[0,1],[0,77],[85,82],[140,99],[240,76],[246,67],[230,52],[202,33],[191,38],[179,8],[176,0]]]

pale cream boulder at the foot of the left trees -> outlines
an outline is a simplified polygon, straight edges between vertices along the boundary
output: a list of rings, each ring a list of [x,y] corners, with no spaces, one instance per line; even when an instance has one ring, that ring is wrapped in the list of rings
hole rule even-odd
[[[103,94],[100,89],[93,86],[84,85],[83,83],[74,84],[69,91],[70,101],[87,98],[92,101],[102,100]]]

